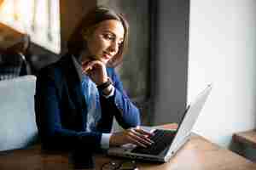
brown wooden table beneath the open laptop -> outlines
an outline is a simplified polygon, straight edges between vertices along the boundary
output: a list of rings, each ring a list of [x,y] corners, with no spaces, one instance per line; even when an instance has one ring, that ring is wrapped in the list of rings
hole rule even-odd
[[[97,155],[96,170],[101,169],[103,163],[120,160],[122,159]],[[253,170],[256,169],[256,164],[193,134],[189,142],[169,162],[163,164],[137,162],[137,167],[140,170]],[[1,170],[72,168],[67,153],[45,153],[39,144],[26,150],[0,152]]]

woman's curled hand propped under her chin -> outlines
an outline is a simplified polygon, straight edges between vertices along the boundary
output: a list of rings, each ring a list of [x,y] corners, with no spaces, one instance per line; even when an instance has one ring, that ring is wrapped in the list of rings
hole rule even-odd
[[[106,65],[100,60],[82,62],[82,70],[96,85],[108,82]]]

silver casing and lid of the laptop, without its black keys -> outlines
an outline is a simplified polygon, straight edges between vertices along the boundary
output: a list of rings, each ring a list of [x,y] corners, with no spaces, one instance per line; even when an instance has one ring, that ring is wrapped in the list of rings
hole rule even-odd
[[[135,144],[124,144],[120,147],[111,147],[108,150],[108,155],[110,156],[122,156],[129,157],[132,159],[141,159],[145,161],[161,161],[166,162],[169,161],[172,156],[174,156],[188,140],[191,134],[191,130],[196,122],[199,113],[207,101],[207,97],[212,90],[212,85],[208,85],[206,89],[204,89],[201,94],[198,94],[195,101],[192,102],[183,115],[182,121],[179,123],[177,130],[172,131],[175,133],[172,142],[166,146],[165,150],[162,150],[158,155],[150,155],[150,154],[140,154],[136,152],[132,152],[136,148]],[[143,127],[145,130],[154,130],[152,127]],[[160,128],[157,128],[160,129]]]

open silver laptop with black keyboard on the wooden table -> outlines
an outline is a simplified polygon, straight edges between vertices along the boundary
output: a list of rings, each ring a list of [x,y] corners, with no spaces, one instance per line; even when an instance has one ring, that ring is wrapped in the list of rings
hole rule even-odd
[[[154,141],[154,144],[147,148],[135,144],[111,147],[108,149],[108,155],[143,161],[169,161],[177,153],[177,150],[189,140],[191,130],[211,90],[212,85],[208,85],[206,89],[198,94],[195,101],[184,111],[182,121],[179,123],[177,130],[143,127],[143,129],[150,132],[154,131],[153,137],[150,137]]]

